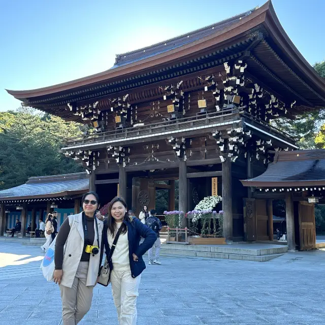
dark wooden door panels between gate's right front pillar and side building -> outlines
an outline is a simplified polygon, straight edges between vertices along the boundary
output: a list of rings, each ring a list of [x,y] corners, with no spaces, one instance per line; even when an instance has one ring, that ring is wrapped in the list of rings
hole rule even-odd
[[[246,241],[273,240],[272,213],[268,216],[268,200],[244,199],[244,234]],[[272,222],[272,225],[269,223]]]

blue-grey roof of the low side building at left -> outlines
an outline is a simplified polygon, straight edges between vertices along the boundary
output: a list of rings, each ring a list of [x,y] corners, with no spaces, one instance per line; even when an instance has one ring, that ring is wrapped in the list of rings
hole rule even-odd
[[[0,201],[57,198],[83,194],[88,188],[89,176],[86,172],[30,177],[23,185],[0,191]]]

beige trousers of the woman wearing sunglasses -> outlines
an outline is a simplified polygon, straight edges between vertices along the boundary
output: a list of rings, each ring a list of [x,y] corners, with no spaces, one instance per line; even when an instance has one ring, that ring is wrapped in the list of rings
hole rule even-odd
[[[60,284],[63,325],[76,325],[89,311],[93,285],[86,286],[89,262],[80,262],[72,287]]]

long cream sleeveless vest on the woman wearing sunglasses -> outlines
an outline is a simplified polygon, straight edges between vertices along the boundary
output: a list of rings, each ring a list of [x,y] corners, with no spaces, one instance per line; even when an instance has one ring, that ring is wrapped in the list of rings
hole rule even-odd
[[[98,224],[99,240],[101,243],[104,224],[103,221],[99,220],[96,217],[95,220],[97,221]],[[70,215],[69,224],[70,224],[70,233],[66,242],[66,249],[64,251],[63,264],[62,264],[63,276],[62,276],[61,284],[71,288],[73,281],[75,279],[75,275],[78,269],[78,265],[80,262],[80,258],[84,246],[82,212],[79,214]],[[95,231],[95,239],[93,245],[99,246],[97,242],[96,225],[94,224],[93,226]],[[90,254],[90,261],[89,261],[89,268],[88,268],[88,275],[87,275],[87,282],[86,282],[87,286],[95,285],[98,276],[99,265],[100,265],[100,253],[94,256]]]

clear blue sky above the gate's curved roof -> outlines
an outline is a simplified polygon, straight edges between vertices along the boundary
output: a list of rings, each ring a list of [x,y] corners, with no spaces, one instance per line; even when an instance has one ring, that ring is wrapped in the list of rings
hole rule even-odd
[[[45,87],[107,70],[135,50],[262,6],[264,0],[0,0],[0,110],[5,88]],[[309,61],[325,58],[325,0],[273,0]]]

